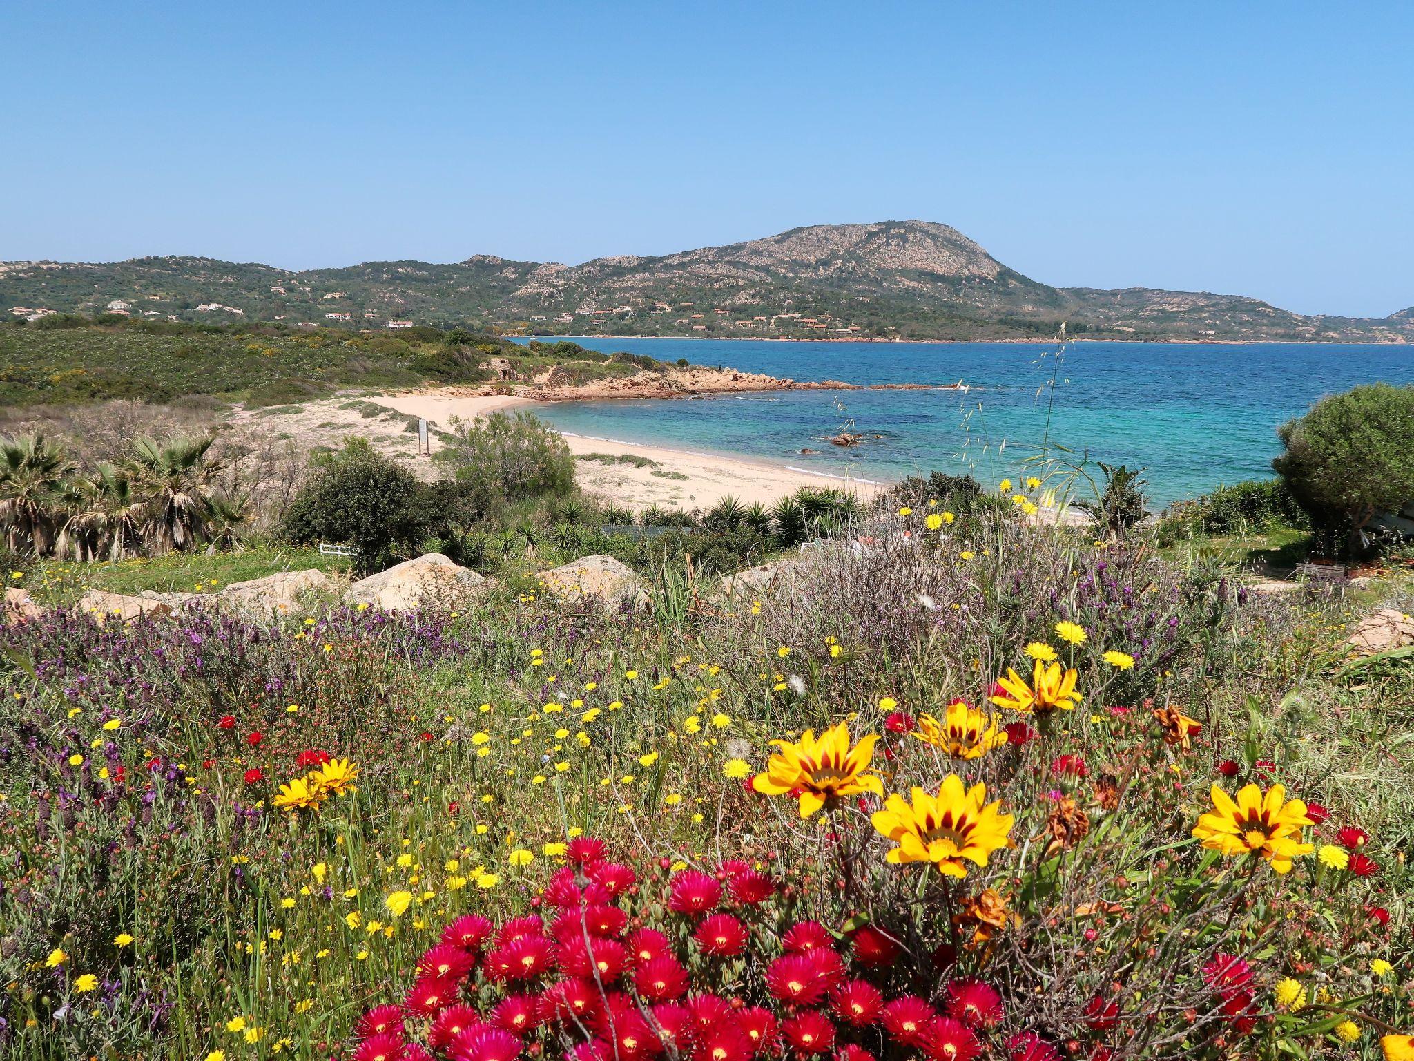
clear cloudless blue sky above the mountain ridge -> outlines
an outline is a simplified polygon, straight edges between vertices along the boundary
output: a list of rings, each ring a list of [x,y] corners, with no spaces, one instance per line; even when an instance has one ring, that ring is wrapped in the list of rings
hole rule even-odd
[[[581,262],[940,221],[1414,304],[1414,3],[0,4],[0,259]]]

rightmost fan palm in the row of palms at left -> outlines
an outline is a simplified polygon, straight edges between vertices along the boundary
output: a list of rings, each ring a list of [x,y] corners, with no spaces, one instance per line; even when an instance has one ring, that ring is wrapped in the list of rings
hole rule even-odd
[[[211,521],[211,495],[221,461],[206,456],[211,436],[160,443],[139,439],[127,472],[143,504],[143,529],[154,552],[189,549]]]

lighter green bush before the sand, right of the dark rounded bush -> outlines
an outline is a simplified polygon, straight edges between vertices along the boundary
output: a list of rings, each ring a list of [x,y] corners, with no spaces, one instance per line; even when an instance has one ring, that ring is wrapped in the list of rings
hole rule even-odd
[[[530,413],[454,419],[451,429],[437,460],[454,470],[471,504],[482,512],[505,502],[560,497],[574,489],[570,447]]]

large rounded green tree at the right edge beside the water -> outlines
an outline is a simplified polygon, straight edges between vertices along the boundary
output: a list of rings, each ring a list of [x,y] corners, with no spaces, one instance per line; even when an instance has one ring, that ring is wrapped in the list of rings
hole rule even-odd
[[[1373,383],[1322,398],[1277,429],[1271,467],[1315,522],[1338,514],[1363,536],[1376,512],[1414,495],[1414,385]]]

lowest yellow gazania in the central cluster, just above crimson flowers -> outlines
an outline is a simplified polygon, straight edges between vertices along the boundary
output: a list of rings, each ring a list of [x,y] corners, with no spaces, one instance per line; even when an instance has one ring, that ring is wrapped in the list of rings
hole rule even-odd
[[[912,804],[894,794],[874,813],[874,828],[898,845],[888,862],[926,862],[943,876],[966,877],[964,860],[986,866],[993,852],[1007,846],[1015,819],[998,812],[1001,801],[987,804],[986,785],[964,789],[962,778],[949,774],[936,796],[922,788],[911,796]]]

